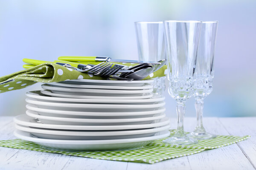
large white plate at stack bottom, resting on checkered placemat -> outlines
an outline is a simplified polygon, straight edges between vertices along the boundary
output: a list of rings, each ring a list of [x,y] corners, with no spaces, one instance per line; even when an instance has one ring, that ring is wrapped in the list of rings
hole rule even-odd
[[[41,139],[33,137],[29,132],[15,130],[14,135],[17,138],[35,142],[48,149],[85,151],[85,150],[124,150],[130,148],[139,148],[156,139],[162,139],[170,135],[169,130],[156,133],[154,136],[132,139],[114,139],[114,140],[55,140]]]

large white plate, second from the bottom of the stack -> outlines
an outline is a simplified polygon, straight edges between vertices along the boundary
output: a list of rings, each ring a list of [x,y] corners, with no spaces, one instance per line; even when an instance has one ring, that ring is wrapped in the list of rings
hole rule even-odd
[[[34,136],[43,139],[59,140],[109,140],[129,139],[153,136],[155,133],[168,130],[170,125],[140,130],[115,130],[115,131],[81,131],[81,130],[49,130],[15,125],[16,129],[29,132]]]

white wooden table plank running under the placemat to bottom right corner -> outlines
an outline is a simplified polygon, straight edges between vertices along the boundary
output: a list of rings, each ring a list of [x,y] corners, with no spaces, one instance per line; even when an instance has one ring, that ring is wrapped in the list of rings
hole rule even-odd
[[[191,125],[191,124],[187,124]],[[218,118],[205,118],[207,132],[218,135],[229,135]],[[237,144],[231,144],[213,150],[206,150],[188,156],[192,170],[254,170],[253,165],[244,156]]]

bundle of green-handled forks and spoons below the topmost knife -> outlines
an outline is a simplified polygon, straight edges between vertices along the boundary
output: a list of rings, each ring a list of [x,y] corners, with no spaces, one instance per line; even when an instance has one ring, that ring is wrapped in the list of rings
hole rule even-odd
[[[130,62],[131,60],[129,60]],[[30,64],[31,66],[45,63],[46,61],[35,60],[35,59],[23,59],[23,62]],[[135,61],[134,61],[135,62]],[[108,77],[119,80],[142,80],[154,71],[157,71],[166,63],[166,59],[158,62],[142,62],[139,65],[129,68],[126,65],[119,65],[103,61],[99,64],[83,64],[81,62],[71,62],[64,60],[55,60],[54,62],[68,68],[72,68],[76,71],[85,72],[87,74],[93,74],[102,77]],[[137,62],[138,63],[138,62]],[[23,65],[24,68],[27,65]]]

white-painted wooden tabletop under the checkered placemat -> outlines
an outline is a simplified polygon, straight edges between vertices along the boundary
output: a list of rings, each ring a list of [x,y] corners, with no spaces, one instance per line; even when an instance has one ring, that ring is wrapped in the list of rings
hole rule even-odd
[[[0,140],[16,139],[12,116],[0,117]],[[172,119],[172,128],[176,120]],[[192,131],[195,118],[185,118],[185,130]],[[205,128],[215,134],[252,136],[250,139],[191,156],[155,164],[107,161],[57,153],[42,153],[0,147],[0,170],[256,170],[256,117],[204,118]]]

